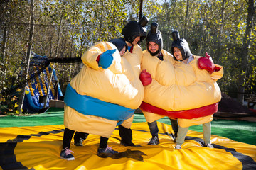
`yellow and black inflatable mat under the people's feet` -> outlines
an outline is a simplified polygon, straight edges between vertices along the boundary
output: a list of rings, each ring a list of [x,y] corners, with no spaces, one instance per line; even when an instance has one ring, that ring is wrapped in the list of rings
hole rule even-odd
[[[170,132],[171,125],[158,123],[159,145],[147,145],[151,135],[147,123],[133,123],[136,147],[120,145],[118,129],[109,146],[118,154],[97,154],[100,137],[89,135],[83,147],[71,144],[74,161],[60,159],[63,125],[0,128],[0,169],[256,169],[256,146],[212,135],[215,148],[202,147],[203,133],[188,130],[180,150]]]

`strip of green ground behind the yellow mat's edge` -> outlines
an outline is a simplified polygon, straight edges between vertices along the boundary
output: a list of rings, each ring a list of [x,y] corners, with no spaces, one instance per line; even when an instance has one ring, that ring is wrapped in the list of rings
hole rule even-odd
[[[49,109],[46,113],[28,116],[8,115],[0,117],[0,127],[23,127],[23,126],[41,126],[41,125],[63,125],[63,108]],[[161,123],[171,125],[168,117],[158,120]],[[146,122],[142,113],[134,113],[134,123]],[[225,128],[223,126],[227,125]],[[242,124],[242,125],[238,125]],[[234,128],[237,126],[238,128]],[[243,129],[242,129],[243,128]],[[189,130],[203,132],[202,125],[194,125]],[[235,120],[213,120],[212,135],[227,137],[231,140],[244,142],[250,145],[256,145],[256,123]]]

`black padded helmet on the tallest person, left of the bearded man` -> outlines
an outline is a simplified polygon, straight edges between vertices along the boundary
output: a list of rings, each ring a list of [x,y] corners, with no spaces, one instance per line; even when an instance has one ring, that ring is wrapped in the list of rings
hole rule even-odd
[[[127,25],[122,28],[122,35],[124,35],[124,40],[131,43],[140,36],[139,42],[142,42],[146,37],[146,24],[149,22],[149,19],[146,16],[143,16],[139,22],[129,21]],[[139,43],[138,42],[138,43]]]

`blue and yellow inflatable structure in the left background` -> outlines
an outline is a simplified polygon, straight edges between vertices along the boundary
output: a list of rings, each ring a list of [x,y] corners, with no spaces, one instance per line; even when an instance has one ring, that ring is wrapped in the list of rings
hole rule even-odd
[[[50,64],[46,67],[46,69],[43,69],[40,74],[33,74],[39,69],[38,64],[33,62],[41,62],[42,60],[47,60],[47,57],[33,53],[31,60],[33,66],[30,67],[29,70],[29,72],[32,74],[30,75],[28,85],[26,86],[26,95],[23,103],[23,111],[27,113],[43,113],[49,108],[50,100],[61,99],[63,96],[60,89],[60,84],[58,84],[55,69],[52,69]],[[52,71],[53,77],[50,81],[50,73]],[[50,86],[50,88],[47,93],[48,86]]]

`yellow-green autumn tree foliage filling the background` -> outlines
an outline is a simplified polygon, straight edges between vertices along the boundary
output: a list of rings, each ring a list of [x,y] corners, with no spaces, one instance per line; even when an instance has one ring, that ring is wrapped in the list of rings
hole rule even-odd
[[[247,72],[240,71],[245,57],[241,50],[247,26],[247,1],[143,2],[143,15],[149,18],[147,28],[149,30],[150,24],[154,21],[159,23],[165,50],[171,49],[171,32],[178,30],[181,37],[188,41],[193,54],[204,56],[205,52],[208,52],[216,64],[223,65],[224,76],[218,81],[222,91],[235,92],[240,83],[239,75],[245,74],[243,83],[246,93],[255,94],[255,20],[250,35]],[[18,81],[18,74],[26,56],[30,21],[29,2],[11,0],[0,5],[0,79],[3,82],[2,88],[6,89]],[[139,20],[139,5],[138,0],[35,1],[33,52],[48,57],[79,57],[95,42],[122,36],[121,30],[127,21]],[[5,47],[4,29],[8,33]],[[57,53],[58,40],[60,45]],[[144,42],[141,46],[146,49]],[[60,80],[69,81],[80,71],[81,66],[57,64],[55,68]]]

